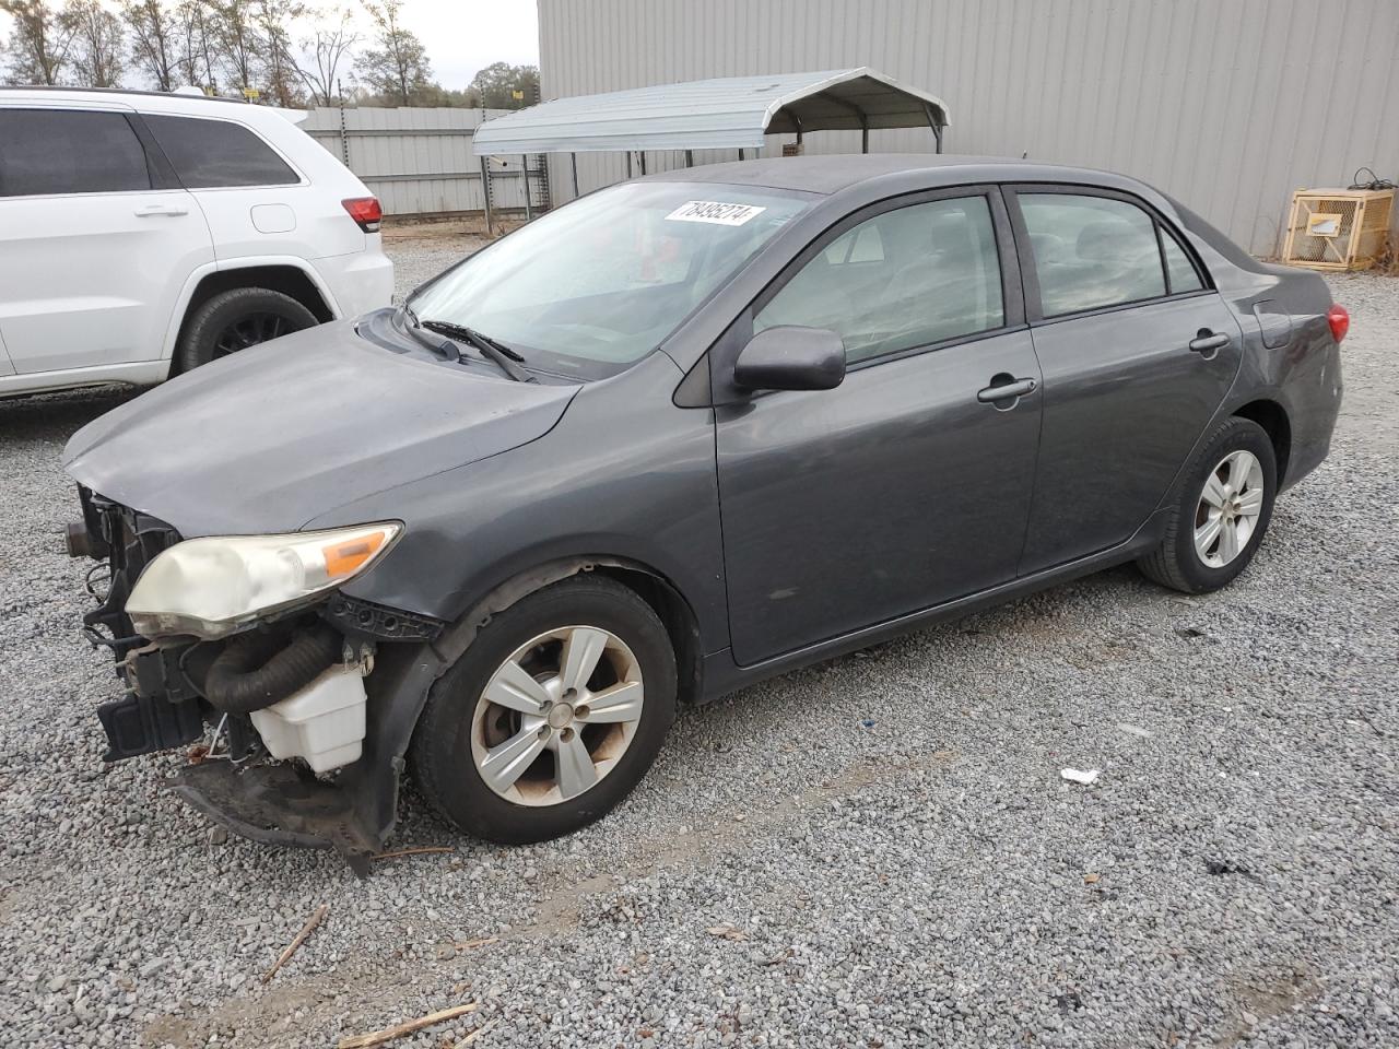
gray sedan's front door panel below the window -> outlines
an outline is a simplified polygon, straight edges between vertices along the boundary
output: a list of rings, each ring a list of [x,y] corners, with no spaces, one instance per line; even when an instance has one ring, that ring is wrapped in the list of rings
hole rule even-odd
[[[834,390],[719,407],[718,470],[740,663],[1011,579],[1025,536],[1039,397],[1010,331],[873,364]]]

